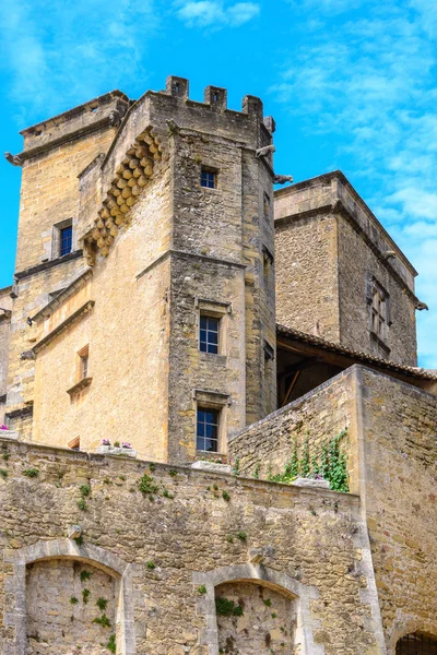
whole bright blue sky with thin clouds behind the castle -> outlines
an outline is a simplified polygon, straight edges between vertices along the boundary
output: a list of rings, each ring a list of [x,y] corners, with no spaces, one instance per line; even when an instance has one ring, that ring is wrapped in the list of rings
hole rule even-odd
[[[276,120],[275,168],[295,181],[340,168],[420,271],[420,364],[437,368],[435,0],[3,0],[3,151],[20,129],[113,88],[131,98],[168,74],[190,96],[260,96]],[[11,283],[20,169],[0,162],[0,287]]]

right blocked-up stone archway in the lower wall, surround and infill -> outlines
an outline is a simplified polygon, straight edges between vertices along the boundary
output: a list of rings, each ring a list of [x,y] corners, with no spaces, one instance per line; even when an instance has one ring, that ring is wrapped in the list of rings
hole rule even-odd
[[[228,655],[270,655],[272,650],[290,655],[324,654],[324,648],[314,641],[317,619],[311,615],[310,603],[319,596],[316,587],[250,563],[197,572],[193,582],[206,592],[199,600],[199,612],[205,615],[206,627],[200,643],[208,646],[209,655],[226,650]],[[221,615],[218,598],[233,603],[235,608],[243,607],[243,614],[237,609],[232,615]],[[265,629],[259,629],[258,619],[265,621]]]

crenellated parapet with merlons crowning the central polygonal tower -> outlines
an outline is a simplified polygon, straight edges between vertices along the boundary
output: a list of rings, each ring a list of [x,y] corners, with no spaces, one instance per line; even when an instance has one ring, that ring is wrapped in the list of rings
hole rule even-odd
[[[142,152],[142,155],[138,155],[140,159],[144,157],[141,159],[142,168],[145,168],[146,176],[152,176],[154,159],[161,158],[164,144],[176,133],[222,140],[227,145],[252,151],[253,155],[259,148],[271,145],[274,121],[270,117],[263,119],[261,100],[255,96],[245,96],[243,111],[233,111],[227,109],[226,95],[224,88],[208,86],[204,92],[205,102],[197,103],[188,99],[188,80],[170,76],[167,79],[166,91],[147,91],[131,105],[106,155],[91,163],[79,176],[80,242],[84,243],[88,239],[95,211],[101,203],[109,203],[105,216],[108,209],[110,211],[114,205],[110,189],[134,152]],[[143,143],[144,139],[146,144]],[[151,152],[145,152],[144,145],[145,151],[151,147]],[[271,152],[259,160],[267,166],[273,179]],[[113,216],[117,218],[114,212]],[[106,252],[105,247],[104,251]]]

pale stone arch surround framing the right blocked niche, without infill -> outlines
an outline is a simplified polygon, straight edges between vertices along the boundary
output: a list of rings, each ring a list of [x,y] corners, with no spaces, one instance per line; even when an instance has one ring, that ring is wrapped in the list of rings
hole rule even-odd
[[[318,598],[318,590],[307,586],[297,580],[259,564],[238,564],[223,567],[214,571],[197,572],[193,574],[196,585],[204,585],[206,593],[199,600],[199,612],[205,615],[206,628],[201,635],[201,644],[209,646],[209,655],[218,655],[220,634],[215,599],[229,585],[233,592],[235,585],[255,584],[257,587],[271,590],[293,603],[295,612],[295,645],[299,646],[299,655],[324,655],[324,648],[314,641],[314,630],[318,621],[311,615],[310,602]],[[269,599],[269,594],[261,595],[261,602]],[[229,598],[232,600],[232,598]],[[271,614],[275,614],[273,610]]]

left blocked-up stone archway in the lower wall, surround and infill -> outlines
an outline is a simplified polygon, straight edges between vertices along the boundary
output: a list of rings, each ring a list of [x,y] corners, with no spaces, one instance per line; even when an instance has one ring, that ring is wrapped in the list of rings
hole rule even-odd
[[[117,655],[135,655],[127,562],[103,548],[59,539],[17,549],[12,563],[8,588],[15,602],[8,623],[15,639],[4,655],[106,655],[113,634]],[[107,602],[104,609],[99,598]]]

